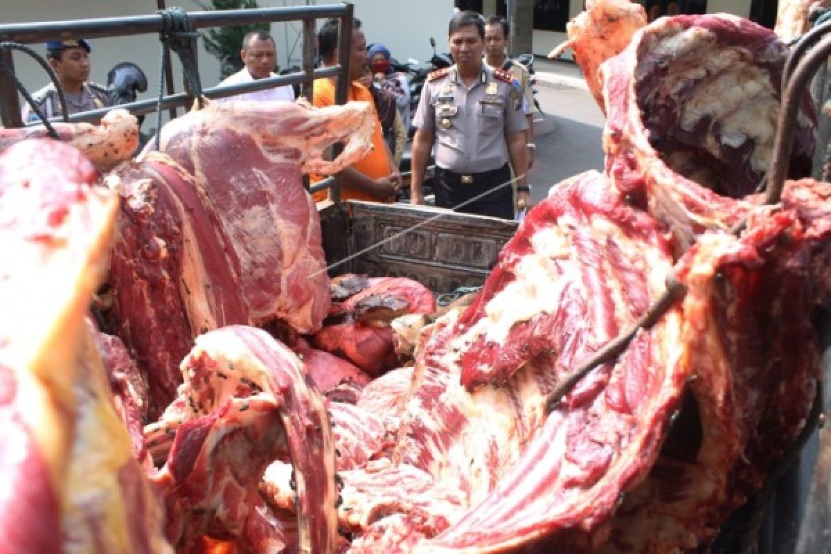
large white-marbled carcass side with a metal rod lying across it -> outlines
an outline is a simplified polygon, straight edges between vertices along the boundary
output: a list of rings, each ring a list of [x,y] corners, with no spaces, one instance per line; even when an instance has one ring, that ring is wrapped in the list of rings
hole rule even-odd
[[[479,302],[437,321],[415,368],[381,378],[392,386],[366,387],[358,407],[400,423],[394,452],[339,473],[352,552],[502,552],[553,532],[585,542],[646,475],[684,382],[671,355],[678,311],[562,411],[543,412],[558,375],[640,316],[670,268],[652,220],[610,191],[597,173],[561,184],[504,248]],[[481,348],[504,360],[502,386],[469,392],[460,380]]]

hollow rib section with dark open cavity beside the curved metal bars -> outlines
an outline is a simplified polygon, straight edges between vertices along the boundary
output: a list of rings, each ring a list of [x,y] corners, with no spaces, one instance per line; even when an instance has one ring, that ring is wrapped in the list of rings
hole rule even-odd
[[[770,164],[788,47],[730,15],[661,17],[601,66],[607,174],[683,252],[729,230]],[[815,110],[805,91],[789,177],[806,177]]]

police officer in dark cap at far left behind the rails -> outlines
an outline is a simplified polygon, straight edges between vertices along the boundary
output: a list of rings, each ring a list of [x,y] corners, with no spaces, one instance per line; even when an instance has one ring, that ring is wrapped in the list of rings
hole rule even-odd
[[[75,41],[47,42],[47,60],[55,70],[66,96],[68,115],[111,105],[106,88],[88,81],[90,51],[89,42],[82,38]],[[61,101],[52,83],[35,92],[32,98],[47,117],[61,115]],[[23,108],[23,121],[31,123],[37,120],[37,114],[26,105]]]

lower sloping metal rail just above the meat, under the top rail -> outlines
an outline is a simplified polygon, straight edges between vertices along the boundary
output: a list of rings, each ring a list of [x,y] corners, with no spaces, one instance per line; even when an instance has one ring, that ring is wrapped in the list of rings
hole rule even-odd
[[[339,73],[340,68],[322,67],[313,72],[317,78],[334,77]],[[276,77],[266,77],[265,79],[258,79],[247,83],[238,83],[236,85],[214,86],[209,89],[204,89],[202,94],[208,98],[225,98],[227,96],[235,96],[243,92],[263,91],[264,89],[272,88],[273,86],[294,85],[302,83],[307,76],[304,73],[291,73],[288,75],[281,75]],[[184,106],[189,108],[193,98],[185,93],[179,92],[172,96],[165,96],[162,99],[162,109],[175,108]],[[118,108],[129,110],[133,115],[146,115],[155,113],[156,99],[150,98],[142,101],[130,102],[130,104],[122,104],[116,106]],[[83,111],[81,113],[72,114],[69,116],[70,121],[96,121],[113,108],[101,108],[100,110]],[[50,120],[62,121],[60,117],[51,118]]]

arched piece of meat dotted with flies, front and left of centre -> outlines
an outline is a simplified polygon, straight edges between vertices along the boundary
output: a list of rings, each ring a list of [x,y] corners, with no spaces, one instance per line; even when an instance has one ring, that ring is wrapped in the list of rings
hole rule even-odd
[[[175,440],[154,478],[177,550],[189,552],[209,535],[233,541],[238,552],[282,552],[288,540],[258,492],[279,459],[293,465],[300,552],[332,552],[334,444],[302,361],[265,331],[229,326],[199,336],[181,370],[185,402],[175,407]]]

